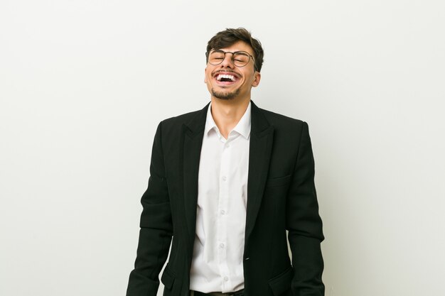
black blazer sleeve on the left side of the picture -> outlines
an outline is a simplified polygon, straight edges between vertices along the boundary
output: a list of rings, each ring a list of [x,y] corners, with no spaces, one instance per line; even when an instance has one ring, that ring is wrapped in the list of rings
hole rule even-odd
[[[173,236],[159,124],[151,152],[149,185],[142,195],[139,244],[134,270],[129,275],[127,296],[156,296],[159,273],[166,262]]]

